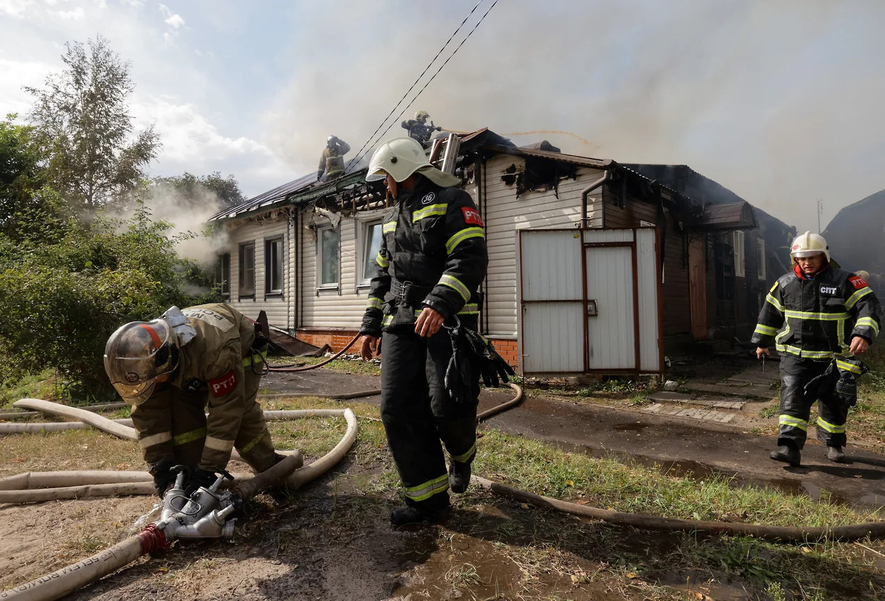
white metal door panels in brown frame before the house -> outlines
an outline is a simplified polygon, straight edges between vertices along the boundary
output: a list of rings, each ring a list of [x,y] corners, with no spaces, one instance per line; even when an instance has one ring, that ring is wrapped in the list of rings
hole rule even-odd
[[[525,375],[660,371],[654,228],[520,230]]]

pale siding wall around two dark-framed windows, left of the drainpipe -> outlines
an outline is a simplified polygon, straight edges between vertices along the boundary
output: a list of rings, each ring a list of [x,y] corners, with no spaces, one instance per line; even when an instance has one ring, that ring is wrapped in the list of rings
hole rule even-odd
[[[242,314],[253,320],[258,318],[258,312],[262,309],[267,312],[267,321],[272,326],[288,329],[291,326],[289,320],[289,304],[293,303],[292,293],[295,287],[292,284],[294,275],[292,266],[292,253],[294,245],[291,243],[291,228],[285,217],[279,220],[247,221],[240,227],[235,227],[228,232],[230,243],[227,248],[230,251],[230,299],[228,302]],[[265,240],[283,236],[283,294],[282,297],[266,297],[265,295]],[[255,297],[240,299],[240,243],[255,243]]]

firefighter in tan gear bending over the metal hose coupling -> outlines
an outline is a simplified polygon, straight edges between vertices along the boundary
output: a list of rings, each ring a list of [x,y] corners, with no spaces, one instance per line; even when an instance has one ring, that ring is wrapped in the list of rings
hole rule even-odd
[[[138,444],[160,497],[174,483],[173,466],[190,468],[189,495],[215,482],[234,447],[256,472],[282,458],[256,401],[267,357],[258,328],[229,304],[202,304],[127,323],[108,339],[104,369],[135,405]]]

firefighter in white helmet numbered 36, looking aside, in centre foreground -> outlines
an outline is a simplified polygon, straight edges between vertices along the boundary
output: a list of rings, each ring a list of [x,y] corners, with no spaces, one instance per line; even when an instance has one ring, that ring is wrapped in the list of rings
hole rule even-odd
[[[406,502],[390,521],[403,526],[444,520],[448,489],[464,492],[470,482],[481,370],[458,366],[466,369],[466,390],[462,402],[453,401],[446,381],[453,348],[443,322],[475,330],[488,256],[470,195],[455,188],[457,177],[428,163],[416,140],[381,144],[366,180],[382,178],[397,204],[382,221],[361,354],[372,357],[383,330],[381,420]]]

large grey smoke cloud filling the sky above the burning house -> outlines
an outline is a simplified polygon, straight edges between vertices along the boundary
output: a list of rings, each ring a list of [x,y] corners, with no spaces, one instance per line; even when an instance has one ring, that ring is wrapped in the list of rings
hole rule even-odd
[[[327,135],[353,158],[473,4],[301,5],[266,142],[298,173],[316,168]],[[455,130],[573,132],[593,146],[557,134],[513,141],[687,164],[813,230],[818,198],[826,226],[885,188],[883,19],[875,2],[500,0],[403,119],[424,109]],[[404,135],[398,121],[393,135]]]

